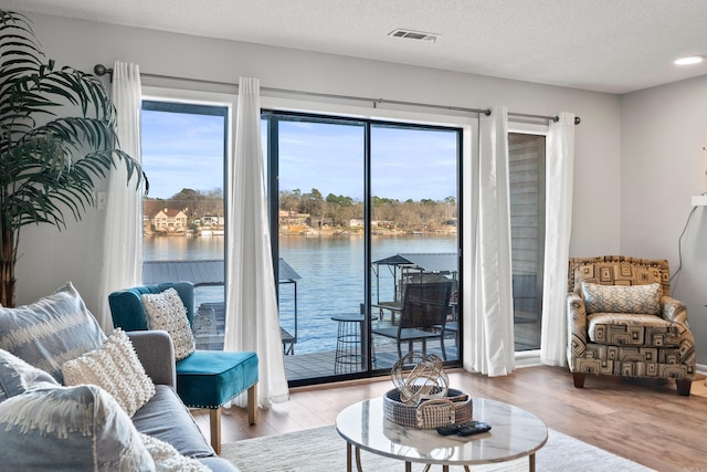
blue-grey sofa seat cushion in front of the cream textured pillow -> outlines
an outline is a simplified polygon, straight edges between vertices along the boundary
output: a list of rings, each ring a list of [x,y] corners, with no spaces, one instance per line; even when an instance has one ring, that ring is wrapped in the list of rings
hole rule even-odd
[[[138,431],[168,442],[180,454],[191,458],[214,455],[193,417],[169,386],[156,386],[155,396],[137,410],[133,423]]]

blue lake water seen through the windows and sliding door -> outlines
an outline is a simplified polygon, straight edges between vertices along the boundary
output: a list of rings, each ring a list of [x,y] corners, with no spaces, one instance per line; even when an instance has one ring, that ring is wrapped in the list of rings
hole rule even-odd
[[[222,259],[223,238],[148,238],[145,260]],[[296,353],[334,350],[337,323],[331,316],[359,313],[365,301],[363,238],[282,238],[279,255],[299,275]],[[373,237],[372,261],[398,253],[455,252],[456,237]],[[393,277],[381,266],[380,300],[393,297]],[[373,289],[373,301],[376,300]],[[222,287],[199,287],[197,304],[223,300]],[[281,324],[294,334],[294,285],[279,285]]]

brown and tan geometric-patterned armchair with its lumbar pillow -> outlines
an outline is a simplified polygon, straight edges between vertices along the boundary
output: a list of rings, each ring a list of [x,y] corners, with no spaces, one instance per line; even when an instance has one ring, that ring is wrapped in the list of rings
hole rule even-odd
[[[669,296],[665,260],[570,259],[567,360],[574,387],[587,374],[675,379],[689,396],[695,340],[687,310]]]

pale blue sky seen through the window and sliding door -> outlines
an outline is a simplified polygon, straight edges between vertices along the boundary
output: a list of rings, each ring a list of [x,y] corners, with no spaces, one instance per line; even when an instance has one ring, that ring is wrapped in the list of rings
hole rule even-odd
[[[143,111],[143,167],[150,197],[223,186],[223,118]],[[363,197],[363,128],[281,123],[279,188]],[[456,135],[373,127],[372,195],[404,201],[455,196]]]

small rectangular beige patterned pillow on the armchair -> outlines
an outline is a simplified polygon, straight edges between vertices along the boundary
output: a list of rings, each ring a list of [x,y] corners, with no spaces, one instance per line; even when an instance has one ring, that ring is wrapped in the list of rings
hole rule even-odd
[[[661,314],[661,285],[600,285],[582,282],[587,314]]]

